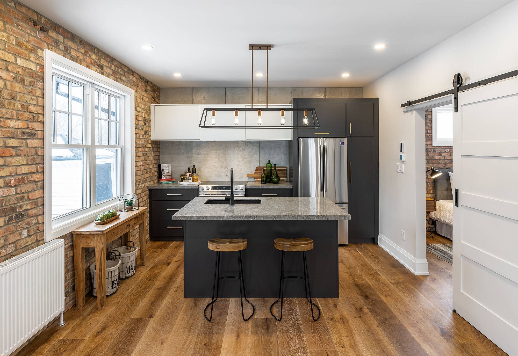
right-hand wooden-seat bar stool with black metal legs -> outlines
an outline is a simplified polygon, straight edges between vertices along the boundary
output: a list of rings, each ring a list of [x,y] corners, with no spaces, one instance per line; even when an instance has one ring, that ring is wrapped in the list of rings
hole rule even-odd
[[[306,300],[311,305],[311,318],[313,318],[313,321],[319,320],[320,308],[318,305],[313,303],[313,301],[311,299],[311,288],[309,285],[308,263],[307,263],[307,259],[306,259],[306,251],[313,249],[313,240],[308,239],[308,238],[275,239],[274,246],[278,250],[282,251],[282,256],[281,256],[281,279],[279,282],[279,298],[277,298],[277,300],[274,303],[272,303],[270,306],[271,316],[274,317],[275,320],[277,320],[277,321],[281,321],[281,319],[282,319],[282,304],[283,304],[283,299],[284,299],[284,279],[299,278],[299,279],[304,279],[304,292],[306,293]],[[301,251],[302,252],[304,277],[299,277],[299,276],[285,276],[284,277],[284,252],[285,251]],[[308,294],[309,294],[309,298],[308,298]],[[274,311],[272,310],[272,308],[279,300],[281,301],[281,316],[279,318],[277,318],[274,315]],[[316,309],[319,311],[319,315],[316,318],[313,314],[313,306],[315,306]]]

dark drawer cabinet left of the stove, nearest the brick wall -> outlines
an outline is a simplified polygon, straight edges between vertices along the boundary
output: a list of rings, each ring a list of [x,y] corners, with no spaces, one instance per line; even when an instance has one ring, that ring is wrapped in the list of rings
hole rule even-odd
[[[183,221],[172,220],[171,217],[197,197],[198,189],[150,188],[149,231],[151,240],[183,240]]]

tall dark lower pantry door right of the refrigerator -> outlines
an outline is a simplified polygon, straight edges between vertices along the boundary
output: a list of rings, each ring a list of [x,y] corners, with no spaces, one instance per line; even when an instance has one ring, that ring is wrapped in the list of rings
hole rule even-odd
[[[349,243],[378,241],[377,186],[378,169],[375,161],[375,138],[349,137],[348,160],[348,212]]]

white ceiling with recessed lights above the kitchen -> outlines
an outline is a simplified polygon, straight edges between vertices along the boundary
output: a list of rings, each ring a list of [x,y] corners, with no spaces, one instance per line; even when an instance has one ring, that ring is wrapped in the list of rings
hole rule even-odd
[[[270,86],[311,87],[364,86],[511,1],[22,2],[160,87],[250,86],[249,43],[274,45]],[[266,53],[254,52],[265,72]]]

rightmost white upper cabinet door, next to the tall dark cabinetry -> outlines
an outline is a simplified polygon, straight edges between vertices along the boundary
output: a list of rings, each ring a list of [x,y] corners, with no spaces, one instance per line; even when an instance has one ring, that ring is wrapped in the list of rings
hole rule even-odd
[[[250,108],[250,105],[246,106]],[[290,104],[285,105],[268,105],[269,108],[291,108]],[[266,108],[266,105],[254,105],[254,109]],[[247,111],[247,126],[257,126],[257,111]],[[262,111],[261,118],[263,124],[261,126],[281,126],[281,113],[280,111]],[[286,125],[292,124],[292,112],[284,111],[284,120]],[[247,140],[251,141],[291,141],[292,140],[292,129],[282,128],[247,128]]]

